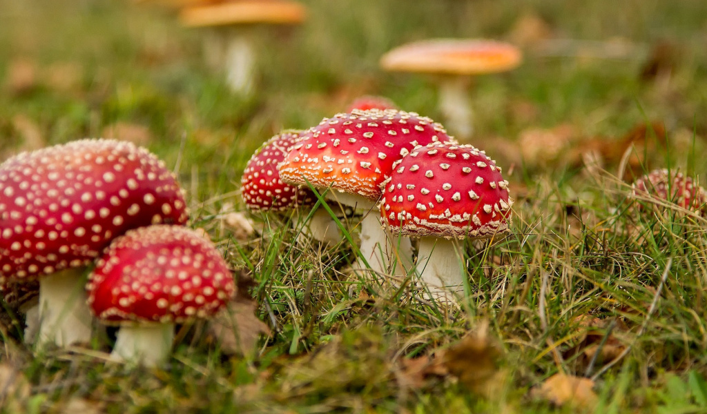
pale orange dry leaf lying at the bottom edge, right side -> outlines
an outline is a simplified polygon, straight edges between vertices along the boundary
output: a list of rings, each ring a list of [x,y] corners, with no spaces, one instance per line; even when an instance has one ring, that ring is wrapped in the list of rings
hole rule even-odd
[[[570,404],[575,408],[592,410],[597,404],[593,387],[591,379],[558,373],[534,388],[532,394],[558,406]]]

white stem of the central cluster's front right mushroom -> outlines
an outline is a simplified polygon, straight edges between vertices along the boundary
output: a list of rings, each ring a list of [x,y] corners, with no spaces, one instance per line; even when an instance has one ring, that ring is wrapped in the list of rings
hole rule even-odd
[[[416,269],[423,287],[433,298],[451,300],[455,295],[461,295],[466,267],[459,240],[420,238]]]

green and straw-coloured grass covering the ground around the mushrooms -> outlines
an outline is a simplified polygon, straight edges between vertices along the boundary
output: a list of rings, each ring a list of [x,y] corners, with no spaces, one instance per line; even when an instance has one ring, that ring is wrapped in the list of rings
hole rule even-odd
[[[704,177],[703,2],[621,4],[631,13],[612,1],[306,3],[310,25],[263,31],[261,93],[242,100],[201,64],[199,33],[169,12],[122,1],[0,0],[0,79],[22,62],[34,73],[0,93],[3,156],[27,148],[33,131],[49,145],[100,136],[118,122],[140,126],[145,145],[175,165],[189,191],[192,225],[209,231],[234,268],[252,272],[250,294],[273,331],[245,357],[187,333],[168,369],[146,371],[105,363],[98,343],[33,355],[16,342],[17,326],[4,324],[0,365],[16,372],[0,413],[573,413],[530,392],[557,372],[595,379],[597,413],[707,410],[706,220],[629,199],[614,177],[618,159],[598,173],[564,156],[530,165],[517,139],[569,124],[573,147],[596,137],[612,146],[658,120],[668,144],[649,133],[633,170],[670,165]],[[364,93],[440,118],[428,79],[378,69],[387,49],[432,36],[508,37],[530,13],[556,38],[623,39],[634,48],[625,59],[600,59],[586,44],[552,55],[529,46],[520,69],[478,79],[472,143],[504,167],[515,221],[508,237],[467,243],[459,307],[422,302],[409,283],[390,289],[351,276],[348,240],[295,244],[288,218],[252,217],[269,230],[247,240],[222,224],[224,208],[243,210],[245,162],[282,128],[315,124]],[[667,62],[670,77],[641,80],[660,41],[677,56]],[[63,75],[59,64],[69,67]],[[354,241],[355,222],[341,221]],[[491,394],[450,375],[406,382],[407,361],[484,324],[498,348]],[[600,347],[593,361],[585,353],[592,346]]]

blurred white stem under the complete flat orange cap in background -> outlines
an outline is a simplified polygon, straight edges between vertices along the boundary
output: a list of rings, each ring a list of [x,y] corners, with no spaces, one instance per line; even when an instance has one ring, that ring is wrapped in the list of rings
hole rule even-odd
[[[440,111],[451,134],[462,139],[470,138],[474,134],[474,115],[468,95],[467,76],[443,76],[440,81]]]

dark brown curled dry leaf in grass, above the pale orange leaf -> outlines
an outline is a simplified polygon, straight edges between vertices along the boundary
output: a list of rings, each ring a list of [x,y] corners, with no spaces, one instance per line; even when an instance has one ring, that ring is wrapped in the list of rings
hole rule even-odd
[[[625,332],[626,325],[617,320],[609,337],[604,339],[610,323],[611,321],[607,319],[599,319],[590,315],[575,317],[573,324],[576,324],[578,331],[580,331],[580,337],[577,345],[564,353],[565,357],[576,357],[578,368],[585,369],[595,355],[595,367],[621,355],[626,349],[626,345],[619,341],[616,334]],[[597,353],[599,354],[597,355]]]

